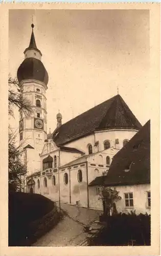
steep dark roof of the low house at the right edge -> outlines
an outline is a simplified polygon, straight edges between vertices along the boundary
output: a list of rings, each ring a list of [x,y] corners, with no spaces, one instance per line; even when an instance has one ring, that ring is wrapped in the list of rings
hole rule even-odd
[[[97,177],[89,186],[150,183],[150,120],[113,157],[107,176]]]

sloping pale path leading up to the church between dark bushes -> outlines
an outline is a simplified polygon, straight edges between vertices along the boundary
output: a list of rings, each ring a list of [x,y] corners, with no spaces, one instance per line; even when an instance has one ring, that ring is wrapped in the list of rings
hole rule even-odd
[[[102,213],[65,203],[61,203],[61,209],[65,212],[63,220],[32,246],[78,246],[88,237],[84,226],[97,221]]]

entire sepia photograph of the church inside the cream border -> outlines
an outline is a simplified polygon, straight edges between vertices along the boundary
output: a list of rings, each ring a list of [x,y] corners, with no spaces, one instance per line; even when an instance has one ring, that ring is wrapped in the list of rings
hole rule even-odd
[[[8,246],[150,247],[150,10],[8,18]]]

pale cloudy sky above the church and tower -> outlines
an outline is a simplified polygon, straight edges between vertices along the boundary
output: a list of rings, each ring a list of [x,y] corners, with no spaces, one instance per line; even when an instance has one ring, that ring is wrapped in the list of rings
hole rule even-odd
[[[49,74],[48,131],[118,93],[144,125],[151,118],[148,10],[10,10],[9,72],[16,77],[33,23]],[[18,127],[18,114],[11,121]]]

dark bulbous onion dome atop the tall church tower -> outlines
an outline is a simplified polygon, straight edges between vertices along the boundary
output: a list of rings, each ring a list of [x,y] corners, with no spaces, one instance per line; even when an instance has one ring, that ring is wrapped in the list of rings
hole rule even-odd
[[[35,79],[48,84],[48,72],[45,70],[42,62],[36,58],[26,58],[21,63],[17,71],[17,79],[20,83],[22,80]]]

